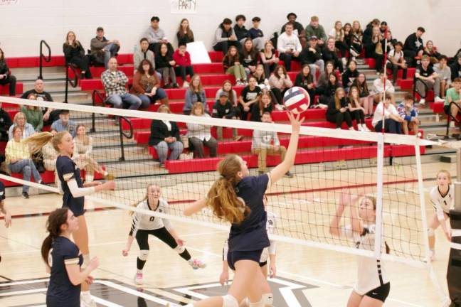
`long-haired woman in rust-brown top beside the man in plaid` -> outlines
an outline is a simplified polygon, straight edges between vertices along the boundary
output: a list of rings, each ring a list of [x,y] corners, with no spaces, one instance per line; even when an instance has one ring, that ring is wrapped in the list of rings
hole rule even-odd
[[[131,92],[141,99],[141,109],[147,109],[150,104],[154,104],[157,100],[160,100],[161,104],[168,105],[166,92],[160,87],[160,80],[149,60],[142,60],[139,63],[137,72],[133,77]]]

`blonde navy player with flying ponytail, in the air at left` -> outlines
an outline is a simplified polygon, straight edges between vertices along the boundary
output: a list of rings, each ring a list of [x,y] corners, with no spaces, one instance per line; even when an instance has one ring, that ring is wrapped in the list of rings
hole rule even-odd
[[[115,181],[82,183],[80,169],[72,160],[74,143],[68,131],[60,131],[55,136],[49,132],[33,134],[33,136],[29,136],[24,140],[24,143],[29,144],[31,153],[35,154],[41,151],[41,148],[51,139],[53,148],[59,153],[56,159],[56,172],[59,178],[59,189],[63,193],[63,208],[69,208],[73,212],[73,215],[78,218],[79,227],[73,232],[72,236],[75,244],[77,244],[80,252],[83,254],[83,269],[85,269],[90,262],[88,227],[84,215],[85,195],[90,195],[101,190],[114,190]],[[82,283],[80,296],[82,307],[96,307],[95,301],[91,298],[89,286],[85,282]]]

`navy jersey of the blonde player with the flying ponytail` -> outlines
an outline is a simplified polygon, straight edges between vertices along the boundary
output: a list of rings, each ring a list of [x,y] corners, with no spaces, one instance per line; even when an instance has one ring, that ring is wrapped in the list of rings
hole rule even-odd
[[[58,159],[56,159],[56,171],[58,172],[60,186],[64,192],[63,208],[69,208],[75,216],[83,215],[85,198],[83,196],[74,198],[68,186],[68,181],[75,178],[78,188],[83,188],[82,178],[80,178],[80,169],[68,156],[58,156]]]

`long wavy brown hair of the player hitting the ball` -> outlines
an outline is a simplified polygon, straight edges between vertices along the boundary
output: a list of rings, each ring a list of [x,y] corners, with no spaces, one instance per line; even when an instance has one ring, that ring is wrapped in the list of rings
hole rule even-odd
[[[207,194],[206,205],[211,207],[216,217],[240,224],[250,208],[237,198],[235,185],[240,181],[238,172],[242,166],[236,155],[228,155],[218,163],[219,178],[213,183]]]

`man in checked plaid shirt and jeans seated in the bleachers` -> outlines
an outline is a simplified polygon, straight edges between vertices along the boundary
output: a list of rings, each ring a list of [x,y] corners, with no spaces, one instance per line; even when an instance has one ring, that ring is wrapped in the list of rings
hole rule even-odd
[[[127,75],[121,70],[117,70],[117,59],[110,58],[109,69],[102,72],[101,82],[104,85],[106,102],[112,104],[117,109],[122,109],[124,104],[128,104],[128,109],[139,109],[142,104],[141,99],[129,94],[125,85],[128,83]]]

